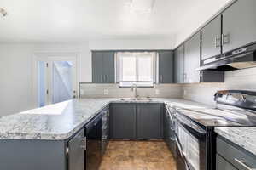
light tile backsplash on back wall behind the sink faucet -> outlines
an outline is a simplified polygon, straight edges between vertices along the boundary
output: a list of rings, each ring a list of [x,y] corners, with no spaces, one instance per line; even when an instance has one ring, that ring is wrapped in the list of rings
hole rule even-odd
[[[80,83],[80,98],[131,98],[131,88],[119,88],[118,84]],[[154,88],[137,88],[139,97],[181,98],[182,85],[157,84]]]

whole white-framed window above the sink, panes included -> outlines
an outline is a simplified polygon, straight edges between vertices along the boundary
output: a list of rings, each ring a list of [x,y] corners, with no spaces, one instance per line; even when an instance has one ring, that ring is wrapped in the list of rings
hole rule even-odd
[[[154,87],[156,82],[156,52],[118,52],[116,82],[120,87]]]

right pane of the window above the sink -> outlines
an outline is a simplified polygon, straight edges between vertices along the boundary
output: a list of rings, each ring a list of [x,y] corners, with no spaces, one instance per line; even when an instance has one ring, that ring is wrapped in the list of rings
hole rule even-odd
[[[137,58],[137,74],[138,81],[152,82],[153,81],[153,57],[148,54],[140,55]]]

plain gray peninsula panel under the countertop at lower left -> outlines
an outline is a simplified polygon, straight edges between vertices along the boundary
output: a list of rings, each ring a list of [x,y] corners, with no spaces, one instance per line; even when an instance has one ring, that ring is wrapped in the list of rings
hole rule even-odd
[[[1,139],[2,170],[67,170],[65,141]]]

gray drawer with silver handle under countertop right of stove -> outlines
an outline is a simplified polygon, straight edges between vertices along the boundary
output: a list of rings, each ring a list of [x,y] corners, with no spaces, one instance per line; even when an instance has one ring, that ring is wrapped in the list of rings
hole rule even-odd
[[[256,168],[256,156],[220,138],[217,138],[217,152],[239,170]]]

